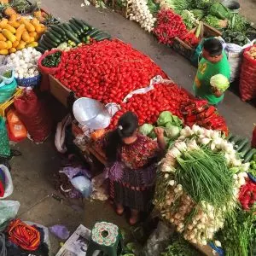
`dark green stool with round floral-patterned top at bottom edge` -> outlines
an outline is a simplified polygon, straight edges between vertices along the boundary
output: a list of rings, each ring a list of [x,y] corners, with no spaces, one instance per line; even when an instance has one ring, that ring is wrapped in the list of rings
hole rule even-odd
[[[118,256],[123,250],[122,235],[119,227],[108,222],[96,222],[90,234],[86,256],[92,256],[98,250],[108,256]]]

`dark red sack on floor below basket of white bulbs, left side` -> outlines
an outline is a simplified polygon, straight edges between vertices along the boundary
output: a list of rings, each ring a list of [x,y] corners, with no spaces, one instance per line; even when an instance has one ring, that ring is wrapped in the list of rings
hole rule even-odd
[[[20,120],[26,125],[32,141],[43,143],[49,136],[52,119],[46,111],[46,106],[38,101],[32,90],[25,90],[23,95],[15,99],[15,109]]]

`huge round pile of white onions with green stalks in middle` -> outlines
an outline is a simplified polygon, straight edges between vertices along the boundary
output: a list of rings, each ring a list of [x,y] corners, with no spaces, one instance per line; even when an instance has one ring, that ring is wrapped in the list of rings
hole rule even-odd
[[[193,125],[180,135],[160,161],[154,205],[186,240],[206,245],[234,211],[249,165],[219,131]]]

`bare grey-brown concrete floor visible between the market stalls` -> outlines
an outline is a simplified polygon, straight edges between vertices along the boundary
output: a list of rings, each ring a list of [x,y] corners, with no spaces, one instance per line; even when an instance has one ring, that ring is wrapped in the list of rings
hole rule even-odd
[[[172,49],[158,44],[152,35],[144,32],[136,23],[125,20],[110,9],[95,9],[92,6],[82,8],[80,6],[82,0],[44,0],[42,2],[45,10],[55,17],[60,17],[61,20],[68,20],[72,16],[87,20],[93,26],[109,32],[113,37],[132,44],[134,48],[149,55],[177,84],[191,91],[195,67]],[[244,0],[241,6],[242,12],[256,21],[253,15],[256,9],[255,0]],[[55,106],[58,108],[54,109],[61,109],[56,102]],[[244,137],[251,137],[253,122],[256,122],[255,108],[241,102],[238,96],[228,91],[219,111],[227,120],[230,131]],[[52,175],[61,164],[61,156],[55,151],[54,137],[49,137],[47,142],[39,145],[26,140],[15,145],[15,148],[22,152],[22,156],[11,160],[15,191],[10,199],[20,201],[20,218],[45,226],[65,224],[71,231],[75,230],[79,224],[91,228],[92,224],[99,219],[112,221],[128,228],[125,218],[117,217],[105,202],[86,201],[84,211],[79,212],[50,196],[55,193]],[[75,203],[83,205],[81,201]],[[51,255],[55,255],[59,241],[51,236],[51,244]]]

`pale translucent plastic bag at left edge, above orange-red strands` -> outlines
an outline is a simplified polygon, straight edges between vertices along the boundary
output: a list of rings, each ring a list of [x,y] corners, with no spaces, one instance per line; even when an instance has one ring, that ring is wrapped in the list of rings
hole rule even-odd
[[[9,224],[9,221],[15,218],[19,208],[19,201],[0,200],[0,231],[5,230]]]

